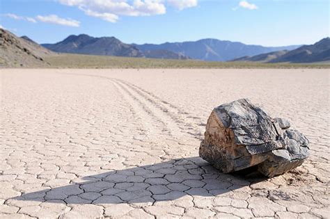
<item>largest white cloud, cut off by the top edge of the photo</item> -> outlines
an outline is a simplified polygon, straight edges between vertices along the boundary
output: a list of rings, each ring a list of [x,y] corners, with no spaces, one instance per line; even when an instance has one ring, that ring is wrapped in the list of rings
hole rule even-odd
[[[76,6],[88,16],[107,22],[117,22],[119,16],[164,15],[166,6],[183,10],[197,6],[198,0],[57,0],[66,6]]]

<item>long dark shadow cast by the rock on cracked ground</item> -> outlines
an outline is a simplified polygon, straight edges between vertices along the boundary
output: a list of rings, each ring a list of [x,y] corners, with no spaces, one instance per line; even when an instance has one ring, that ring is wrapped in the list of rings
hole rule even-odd
[[[249,176],[253,177],[249,177]],[[119,204],[177,200],[187,195],[215,197],[265,177],[252,169],[223,174],[200,157],[173,159],[82,178],[84,181],[13,197],[67,204]]]

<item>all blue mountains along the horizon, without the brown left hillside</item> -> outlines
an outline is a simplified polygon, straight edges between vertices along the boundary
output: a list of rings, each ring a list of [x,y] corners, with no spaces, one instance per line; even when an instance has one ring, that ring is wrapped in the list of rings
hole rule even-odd
[[[26,36],[22,39],[34,43]],[[194,42],[166,42],[163,44],[125,44],[114,37],[93,38],[81,34],[70,35],[61,42],[42,44],[42,46],[61,53],[100,56],[310,63],[329,60],[329,41],[329,38],[324,38],[316,44],[302,47],[297,45],[262,47],[216,39],[204,39]]]

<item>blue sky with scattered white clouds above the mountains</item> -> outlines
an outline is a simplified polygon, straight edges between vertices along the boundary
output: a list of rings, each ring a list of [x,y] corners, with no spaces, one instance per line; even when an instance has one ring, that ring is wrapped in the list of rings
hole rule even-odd
[[[0,0],[0,25],[39,43],[71,34],[127,43],[217,38],[313,44],[330,35],[329,0]]]

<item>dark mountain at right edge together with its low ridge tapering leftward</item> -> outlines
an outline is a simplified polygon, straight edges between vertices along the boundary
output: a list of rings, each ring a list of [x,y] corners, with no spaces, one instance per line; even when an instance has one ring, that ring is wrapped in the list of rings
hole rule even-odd
[[[324,38],[312,45],[304,45],[291,51],[282,50],[257,56],[243,56],[233,61],[260,63],[315,63],[330,60],[330,38]]]

